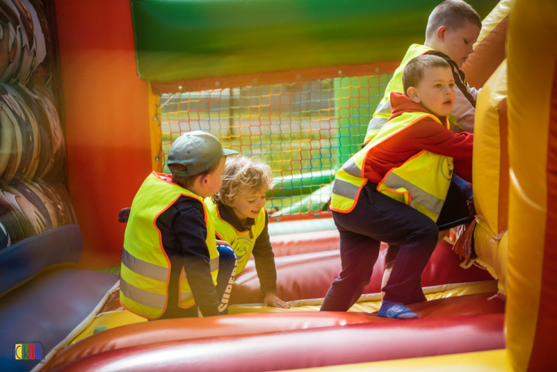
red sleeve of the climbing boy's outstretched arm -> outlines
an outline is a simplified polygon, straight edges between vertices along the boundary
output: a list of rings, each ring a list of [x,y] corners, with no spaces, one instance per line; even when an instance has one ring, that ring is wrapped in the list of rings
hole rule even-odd
[[[472,182],[473,134],[454,134],[450,129],[428,118],[413,124],[405,132],[409,146],[431,151],[434,154],[451,156],[455,173],[462,179]]]

